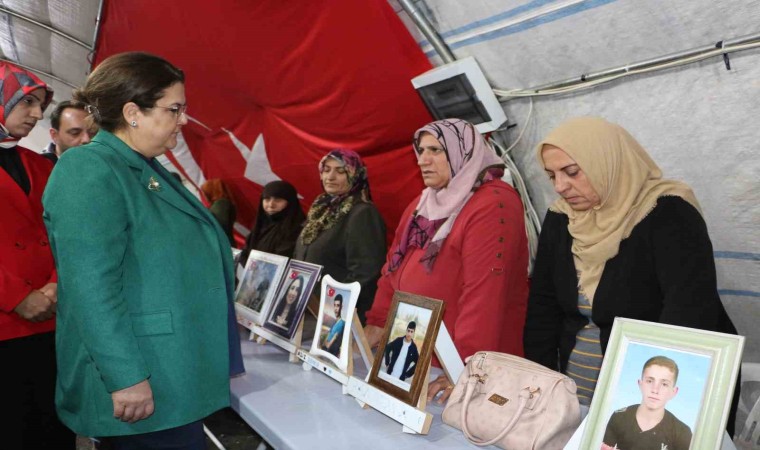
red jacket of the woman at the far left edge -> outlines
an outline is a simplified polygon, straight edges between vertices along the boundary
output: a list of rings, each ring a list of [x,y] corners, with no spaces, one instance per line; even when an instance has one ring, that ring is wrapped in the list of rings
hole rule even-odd
[[[0,169],[0,341],[55,329],[55,318],[33,323],[13,309],[33,289],[56,281],[55,263],[42,221],[42,192],[53,164],[16,147],[31,190],[29,196]]]

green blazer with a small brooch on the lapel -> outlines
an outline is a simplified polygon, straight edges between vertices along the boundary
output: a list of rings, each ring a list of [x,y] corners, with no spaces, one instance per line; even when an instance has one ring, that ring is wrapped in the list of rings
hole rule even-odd
[[[67,151],[42,199],[58,268],[56,408],[84,436],[147,433],[229,405],[224,232],[168,171],[101,130]],[[148,379],[155,412],[113,417]]]

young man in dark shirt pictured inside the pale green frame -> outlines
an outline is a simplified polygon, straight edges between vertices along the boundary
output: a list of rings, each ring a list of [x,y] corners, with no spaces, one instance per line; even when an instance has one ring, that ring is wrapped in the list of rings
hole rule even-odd
[[[691,429],[665,409],[678,394],[678,365],[666,356],[644,363],[641,403],[618,409],[607,422],[602,449],[688,450]]]

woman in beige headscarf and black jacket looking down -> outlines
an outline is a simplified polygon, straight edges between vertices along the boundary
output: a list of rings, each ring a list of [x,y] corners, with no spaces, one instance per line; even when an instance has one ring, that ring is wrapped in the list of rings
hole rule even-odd
[[[527,358],[568,374],[589,404],[615,317],[736,334],[689,186],[663,179],[626,130],[599,118],[565,122],[537,151],[561,198],[539,239]]]

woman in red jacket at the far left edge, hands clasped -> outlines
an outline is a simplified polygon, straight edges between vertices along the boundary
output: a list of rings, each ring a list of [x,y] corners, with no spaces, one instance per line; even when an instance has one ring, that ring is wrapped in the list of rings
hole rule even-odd
[[[0,62],[0,386],[3,448],[75,447],[55,413],[53,255],[42,191],[53,164],[18,146],[53,98],[34,74]]]

